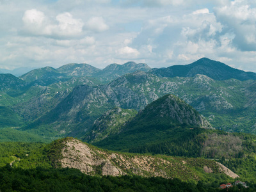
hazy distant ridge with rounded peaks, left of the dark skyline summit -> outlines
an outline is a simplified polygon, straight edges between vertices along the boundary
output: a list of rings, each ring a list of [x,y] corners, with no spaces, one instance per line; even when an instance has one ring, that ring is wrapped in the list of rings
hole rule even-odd
[[[20,76],[20,79],[26,82],[34,82],[41,85],[48,85],[58,81],[67,81],[72,77],[94,77],[102,82],[109,82],[124,74],[141,70],[148,72],[151,68],[145,63],[127,62],[123,65],[116,63],[108,65],[104,69],[99,69],[86,63],[69,63],[59,68],[43,67],[31,70]]]

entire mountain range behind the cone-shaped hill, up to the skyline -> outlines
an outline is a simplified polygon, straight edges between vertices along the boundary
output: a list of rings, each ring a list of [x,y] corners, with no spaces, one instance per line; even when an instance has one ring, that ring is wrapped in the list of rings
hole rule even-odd
[[[189,70],[183,70],[184,67]],[[192,72],[196,75],[162,77],[161,72],[164,71],[174,76],[169,72],[172,68],[180,71],[180,76],[192,76]],[[207,74],[211,74],[212,78]],[[228,75],[224,77],[225,74]],[[115,80],[109,80],[115,77]],[[240,81],[230,77],[250,80]],[[20,78],[1,74],[0,104],[19,119],[13,127],[28,124],[22,130],[48,134],[44,131],[47,127],[54,132],[53,137],[83,137],[105,111],[116,106],[139,111],[159,97],[172,93],[193,106],[217,129],[255,132],[253,77],[252,72],[236,70],[207,58],[190,65],[152,70],[146,64],[134,62],[111,64],[103,70],[88,64],[70,63],[57,69],[45,67],[31,70]]]

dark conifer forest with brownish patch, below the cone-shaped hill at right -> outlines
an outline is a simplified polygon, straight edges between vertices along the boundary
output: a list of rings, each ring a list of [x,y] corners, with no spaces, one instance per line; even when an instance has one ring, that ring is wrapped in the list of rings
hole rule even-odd
[[[256,154],[256,136],[232,134],[218,130],[185,129],[177,138],[155,141],[129,148],[129,152],[141,154],[165,154],[168,156],[205,157],[207,159],[244,158]]]

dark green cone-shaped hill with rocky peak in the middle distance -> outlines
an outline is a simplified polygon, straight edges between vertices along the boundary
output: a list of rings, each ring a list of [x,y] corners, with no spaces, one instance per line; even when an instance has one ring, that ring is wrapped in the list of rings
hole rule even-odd
[[[164,95],[148,104],[118,134],[96,142],[109,150],[131,150],[143,145],[193,139],[211,125],[195,109],[174,95]]]

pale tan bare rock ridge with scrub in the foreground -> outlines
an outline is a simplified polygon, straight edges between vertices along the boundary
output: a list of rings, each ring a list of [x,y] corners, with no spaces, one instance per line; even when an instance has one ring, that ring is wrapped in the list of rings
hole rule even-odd
[[[143,156],[134,154],[122,154],[108,152],[100,148],[92,147],[86,143],[73,138],[65,138],[61,142],[65,144],[62,148],[61,167],[77,168],[89,175],[141,175],[144,177],[175,178],[186,174],[189,179],[199,180],[199,176],[193,173],[189,161],[196,159],[163,159],[155,156]],[[202,161],[202,159],[200,160]],[[205,166],[211,173],[222,173],[222,164],[205,159]],[[204,166],[199,170],[204,172]],[[177,174],[179,170],[179,174]],[[228,173],[232,173],[230,170]],[[234,173],[235,175],[235,173]]]

